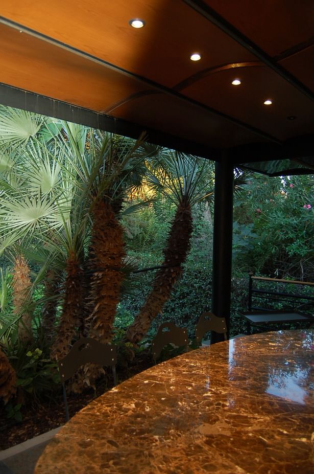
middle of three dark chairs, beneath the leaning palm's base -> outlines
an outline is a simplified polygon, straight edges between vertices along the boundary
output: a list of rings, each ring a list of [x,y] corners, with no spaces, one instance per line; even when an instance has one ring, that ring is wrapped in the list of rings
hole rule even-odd
[[[170,322],[163,323],[159,326],[157,334],[152,341],[152,352],[155,363],[163,347],[167,344],[173,344],[178,347],[185,346],[185,350],[187,350],[188,338],[186,328],[180,328]]]

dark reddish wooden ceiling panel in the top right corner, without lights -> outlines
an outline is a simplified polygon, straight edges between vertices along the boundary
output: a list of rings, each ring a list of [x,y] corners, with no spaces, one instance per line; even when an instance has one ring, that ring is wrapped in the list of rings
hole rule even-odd
[[[314,40],[312,0],[205,0],[271,56]]]

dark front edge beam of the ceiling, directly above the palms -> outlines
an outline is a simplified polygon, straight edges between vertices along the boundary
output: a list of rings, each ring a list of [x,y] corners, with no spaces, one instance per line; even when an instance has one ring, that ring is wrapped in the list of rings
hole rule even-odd
[[[3,83],[0,83],[0,104],[22,108],[36,112],[37,114],[79,123],[134,139],[137,139],[140,134],[145,131],[147,141],[155,145],[176,149],[183,153],[195,154],[209,160],[220,160],[221,156],[219,150],[195,143],[191,140],[178,138],[169,133],[163,133],[141,124],[116,119],[106,114],[99,114],[98,112],[83,107],[77,107]]]

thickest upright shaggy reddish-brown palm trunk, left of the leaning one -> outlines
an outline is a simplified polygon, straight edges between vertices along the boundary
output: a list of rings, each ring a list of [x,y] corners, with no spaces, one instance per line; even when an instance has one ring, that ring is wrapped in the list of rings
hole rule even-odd
[[[110,343],[113,322],[124,278],[121,271],[125,256],[123,227],[109,202],[99,201],[93,209],[91,278],[91,335],[101,343]]]

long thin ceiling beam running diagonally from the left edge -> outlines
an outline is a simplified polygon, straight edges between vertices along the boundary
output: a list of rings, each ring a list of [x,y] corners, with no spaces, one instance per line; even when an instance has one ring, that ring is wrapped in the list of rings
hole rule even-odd
[[[24,25],[18,24],[15,21],[12,21],[12,20],[10,20],[8,18],[5,18],[3,16],[0,16],[0,23],[3,23],[4,25],[7,25],[11,28],[14,28],[15,30],[23,31],[27,34],[30,34],[30,35],[32,35],[32,36],[34,36],[34,37],[36,37],[36,38],[38,38],[42,41],[46,41],[46,42],[49,42],[51,44],[54,44],[54,46],[56,46],[58,48],[65,49],[66,51],[69,51],[73,54],[77,54],[81,57],[84,57],[85,59],[96,62],[96,63],[101,64],[103,66],[106,66],[106,67],[108,67],[109,69],[111,69],[113,71],[116,71],[120,74],[123,74],[127,77],[130,77],[132,79],[135,79],[135,80],[141,82],[146,87],[151,87],[151,88],[155,89],[156,91],[158,91],[162,94],[166,94],[168,96],[174,97],[174,98],[176,98],[180,101],[183,101],[185,103],[188,103],[190,105],[198,107],[202,110],[205,110],[206,112],[209,112],[210,114],[214,114],[218,117],[221,117],[221,118],[223,118],[223,119],[225,119],[225,120],[227,120],[227,121],[229,121],[229,122],[231,122],[235,125],[238,125],[239,127],[242,127],[246,130],[249,130],[250,132],[253,132],[253,133],[257,134],[259,137],[262,137],[262,138],[267,139],[267,140],[269,140],[271,142],[274,142],[274,143],[280,143],[280,141],[277,138],[271,136],[269,133],[266,133],[266,132],[260,130],[259,128],[253,127],[252,125],[249,125],[245,122],[237,120],[236,118],[234,118],[232,116],[224,114],[223,112],[221,112],[219,110],[216,110],[212,107],[209,107],[208,105],[205,105],[202,102],[191,99],[191,98],[179,93],[178,91],[175,91],[172,88],[165,87],[165,86],[159,84],[158,82],[147,79],[146,77],[139,76],[138,74],[131,73],[130,71],[128,71],[126,69],[123,69],[122,67],[116,66],[115,64],[109,63],[108,61],[105,61],[104,59],[93,56],[89,53],[86,53],[85,51],[81,51],[77,48],[74,48],[73,46],[70,46],[69,44],[66,44],[62,41],[51,38],[50,36],[44,35],[44,34],[38,32],[38,31],[32,30],[31,28],[28,28]]]

